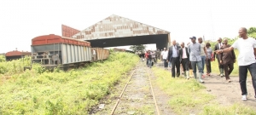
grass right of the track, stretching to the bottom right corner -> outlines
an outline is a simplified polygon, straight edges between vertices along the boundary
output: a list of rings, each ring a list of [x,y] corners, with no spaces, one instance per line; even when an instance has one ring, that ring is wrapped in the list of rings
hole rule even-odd
[[[183,77],[172,78],[171,72],[156,67],[153,67],[152,70],[157,77],[156,83],[160,89],[171,96],[168,103],[177,114],[189,114],[189,110],[198,111],[202,115],[256,114],[252,107],[241,103],[231,106],[209,103],[215,97],[208,94],[205,87],[196,82],[194,78],[189,80]]]

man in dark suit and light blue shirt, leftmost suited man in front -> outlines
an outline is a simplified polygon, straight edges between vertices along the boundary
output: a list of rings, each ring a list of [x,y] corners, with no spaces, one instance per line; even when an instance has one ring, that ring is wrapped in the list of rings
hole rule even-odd
[[[172,46],[169,48],[168,51],[168,61],[172,63],[172,78],[175,78],[175,67],[177,69],[177,78],[180,75],[180,61],[179,61],[179,52],[180,46],[177,45],[176,40],[172,41]]]

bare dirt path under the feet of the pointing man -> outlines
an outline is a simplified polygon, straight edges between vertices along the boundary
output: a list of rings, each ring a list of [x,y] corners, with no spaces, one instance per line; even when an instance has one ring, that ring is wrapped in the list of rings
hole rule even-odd
[[[247,78],[247,101],[241,101],[241,89],[238,77],[231,76],[231,83],[227,83],[225,78],[221,78],[217,74],[211,77],[203,78],[206,83],[207,91],[215,95],[218,102],[222,105],[230,105],[241,102],[256,109],[256,99],[254,98],[252,78]]]

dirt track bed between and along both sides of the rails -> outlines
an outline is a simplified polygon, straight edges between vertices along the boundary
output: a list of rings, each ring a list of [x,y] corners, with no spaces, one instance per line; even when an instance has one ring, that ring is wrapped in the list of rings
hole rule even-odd
[[[154,99],[150,89],[150,83],[148,79],[148,67],[145,66],[144,62],[139,62],[137,67],[134,69],[134,75],[131,78],[130,83],[125,89],[125,93],[119,101],[119,105],[115,109],[115,115],[129,115],[129,114],[146,114],[146,115],[156,115],[156,108],[154,106]],[[131,73],[130,73],[131,74]],[[154,80],[154,76],[150,77]],[[118,97],[125,87],[125,83],[128,81],[128,78],[123,79],[120,84],[115,86],[116,89],[113,89],[113,95],[108,95],[105,101],[102,101],[101,104],[104,104],[104,108],[99,109],[95,108],[91,114],[101,114],[107,115],[110,114],[113,106],[115,105]],[[154,87],[154,95],[158,103],[160,114],[174,114],[168,106],[167,102],[170,97],[165,95],[156,84],[152,83]],[[99,105],[101,106],[101,105]]]

